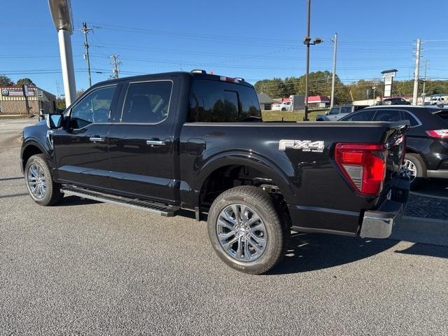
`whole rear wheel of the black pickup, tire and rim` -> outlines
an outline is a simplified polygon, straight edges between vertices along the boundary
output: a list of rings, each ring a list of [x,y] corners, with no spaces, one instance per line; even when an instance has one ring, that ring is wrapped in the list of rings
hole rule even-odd
[[[219,195],[207,221],[209,239],[219,258],[248,274],[272,269],[285,254],[290,231],[271,197],[253,186],[239,186]]]

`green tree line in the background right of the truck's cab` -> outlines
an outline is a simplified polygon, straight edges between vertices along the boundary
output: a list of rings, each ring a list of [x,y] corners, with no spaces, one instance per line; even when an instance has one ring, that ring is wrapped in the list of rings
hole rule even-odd
[[[332,73],[330,71],[316,71],[309,73],[309,95],[330,97]],[[375,89],[373,90],[373,87]],[[305,76],[272,78],[258,80],[255,90],[264,92],[272,98],[289,97],[292,94],[305,93]],[[394,80],[392,95],[400,97],[412,96],[414,80]],[[423,83],[419,83],[419,95],[423,92]],[[430,94],[448,94],[448,80],[426,80],[426,96]],[[353,102],[353,100],[373,99],[383,97],[384,82],[380,78],[370,80],[360,79],[353,83],[344,84],[335,76],[335,101],[337,104]]]

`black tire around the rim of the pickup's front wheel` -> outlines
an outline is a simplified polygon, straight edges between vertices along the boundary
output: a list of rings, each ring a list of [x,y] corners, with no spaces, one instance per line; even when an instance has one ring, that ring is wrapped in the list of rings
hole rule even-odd
[[[29,169],[31,166],[38,166],[42,169],[43,176],[45,176],[45,193],[43,197],[36,197],[36,195],[31,191],[30,181],[29,181]],[[39,205],[49,206],[56,204],[64,195],[61,193],[61,186],[59,183],[53,181],[53,176],[51,174],[51,169],[48,166],[45,156],[43,154],[36,154],[28,159],[27,165],[25,166],[25,183],[27,184],[28,193],[32,200]]]

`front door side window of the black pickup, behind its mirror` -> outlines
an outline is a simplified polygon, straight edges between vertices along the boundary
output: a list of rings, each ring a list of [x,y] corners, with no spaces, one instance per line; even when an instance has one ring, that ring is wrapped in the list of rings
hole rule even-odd
[[[85,127],[91,123],[107,123],[116,85],[99,87],[88,93],[73,108],[70,114],[70,127]]]

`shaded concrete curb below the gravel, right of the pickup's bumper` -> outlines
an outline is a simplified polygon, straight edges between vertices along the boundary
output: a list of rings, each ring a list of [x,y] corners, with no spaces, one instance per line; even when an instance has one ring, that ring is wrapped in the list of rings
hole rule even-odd
[[[448,246],[448,221],[403,216],[389,239]]]

